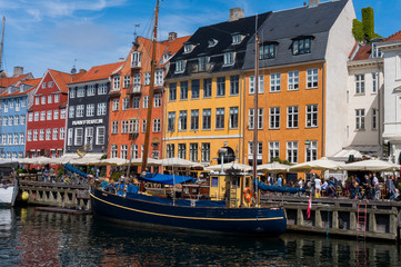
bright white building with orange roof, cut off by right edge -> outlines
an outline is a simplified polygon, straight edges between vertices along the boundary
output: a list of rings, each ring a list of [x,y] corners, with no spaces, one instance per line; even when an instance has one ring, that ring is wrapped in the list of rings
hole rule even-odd
[[[384,132],[389,160],[401,162],[401,31],[378,46],[384,53]]]

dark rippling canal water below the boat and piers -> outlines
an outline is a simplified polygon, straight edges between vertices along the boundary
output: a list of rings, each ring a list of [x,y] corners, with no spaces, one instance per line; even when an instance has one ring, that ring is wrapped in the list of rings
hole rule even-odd
[[[399,245],[325,236],[201,235],[92,215],[0,209],[0,266],[401,266]]]

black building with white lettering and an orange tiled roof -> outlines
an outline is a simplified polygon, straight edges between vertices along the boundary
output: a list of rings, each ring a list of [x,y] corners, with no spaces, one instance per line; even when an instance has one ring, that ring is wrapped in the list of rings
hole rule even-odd
[[[107,154],[111,73],[122,62],[92,67],[68,83],[67,154]]]

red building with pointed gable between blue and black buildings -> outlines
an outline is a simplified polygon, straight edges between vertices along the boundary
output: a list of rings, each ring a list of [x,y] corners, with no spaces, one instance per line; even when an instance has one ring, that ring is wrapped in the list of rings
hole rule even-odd
[[[68,87],[83,73],[48,69],[28,109],[27,157],[60,157],[64,150]]]

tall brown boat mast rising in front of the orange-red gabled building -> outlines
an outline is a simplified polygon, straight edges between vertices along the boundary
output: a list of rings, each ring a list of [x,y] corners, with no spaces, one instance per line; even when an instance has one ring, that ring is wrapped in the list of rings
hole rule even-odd
[[[156,72],[156,50],[158,43],[158,14],[159,14],[159,0],[156,3],[154,10],[154,28],[153,28],[153,42],[152,42],[152,59],[150,61],[150,89],[149,89],[149,100],[148,100],[148,117],[147,117],[147,131],[144,134],[144,144],[143,144],[143,155],[142,155],[142,174],[148,169],[148,154],[149,154],[149,137],[150,137],[150,126],[152,120],[152,105],[153,105],[153,90],[154,90],[154,72]],[[144,191],[144,182],[141,181],[141,191]]]

